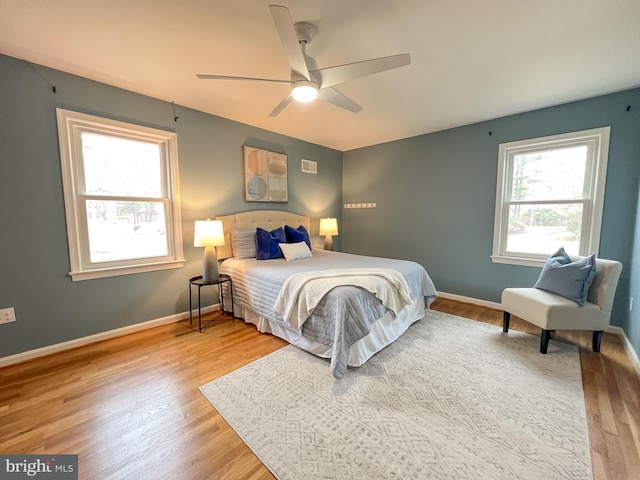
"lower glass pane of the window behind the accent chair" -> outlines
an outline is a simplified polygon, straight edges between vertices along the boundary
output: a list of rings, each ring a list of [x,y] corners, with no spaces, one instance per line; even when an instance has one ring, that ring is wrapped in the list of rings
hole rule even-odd
[[[564,247],[578,255],[582,204],[511,205],[507,252],[551,255]]]

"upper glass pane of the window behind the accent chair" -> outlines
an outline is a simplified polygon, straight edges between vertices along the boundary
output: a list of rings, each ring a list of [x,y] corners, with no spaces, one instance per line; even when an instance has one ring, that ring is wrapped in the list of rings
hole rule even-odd
[[[511,200],[581,199],[586,165],[585,145],[517,154]]]

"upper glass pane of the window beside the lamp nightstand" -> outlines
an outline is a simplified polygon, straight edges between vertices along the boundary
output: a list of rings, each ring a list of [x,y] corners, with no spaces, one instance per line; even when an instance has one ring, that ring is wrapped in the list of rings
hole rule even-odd
[[[82,132],[85,193],[163,196],[158,144]]]

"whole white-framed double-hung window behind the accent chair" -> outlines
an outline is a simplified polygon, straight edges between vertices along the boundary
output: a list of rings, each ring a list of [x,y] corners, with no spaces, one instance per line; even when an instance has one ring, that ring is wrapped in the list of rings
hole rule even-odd
[[[494,262],[542,265],[561,246],[569,255],[598,250],[609,131],[500,145]]]

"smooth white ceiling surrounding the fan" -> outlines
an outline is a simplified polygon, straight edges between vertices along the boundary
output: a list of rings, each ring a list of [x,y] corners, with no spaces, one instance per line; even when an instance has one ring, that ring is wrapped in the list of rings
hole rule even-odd
[[[268,5],[318,27],[318,67],[409,66],[269,113],[289,78]],[[640,86],[640,0],[0,0],[0,53],[337,150]]]

